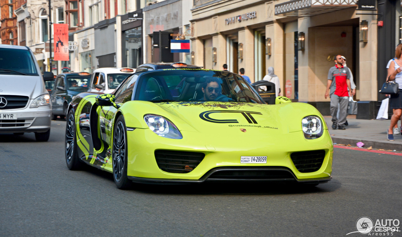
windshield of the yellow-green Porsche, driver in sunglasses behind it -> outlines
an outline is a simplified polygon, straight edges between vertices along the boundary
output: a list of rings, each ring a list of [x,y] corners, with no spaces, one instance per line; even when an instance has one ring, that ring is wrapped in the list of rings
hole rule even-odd
[[[207,69],[165,69],[146,73],[139,81],[135,100],[265,104],[254,88],[237,74]]]

